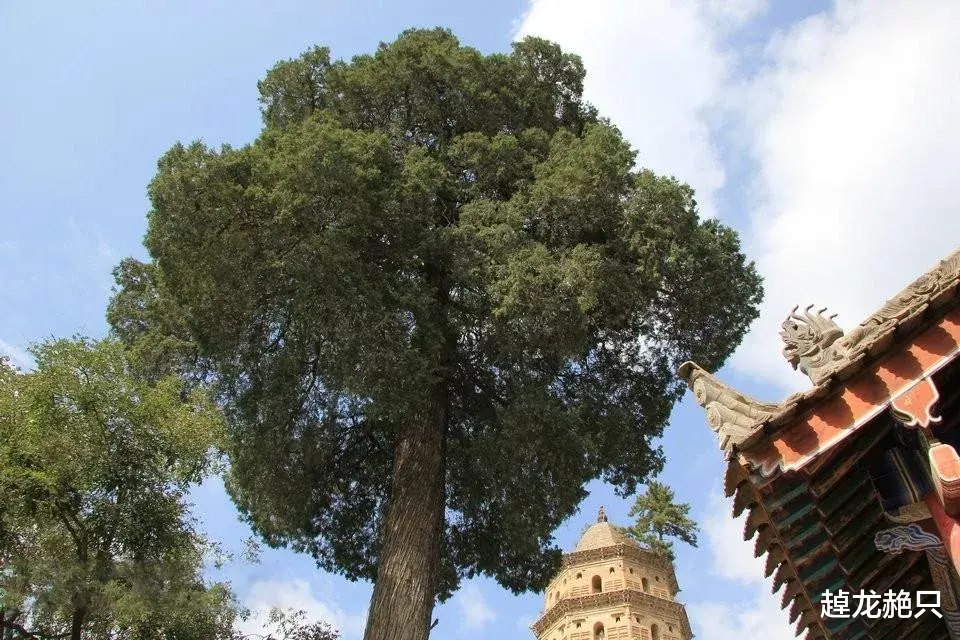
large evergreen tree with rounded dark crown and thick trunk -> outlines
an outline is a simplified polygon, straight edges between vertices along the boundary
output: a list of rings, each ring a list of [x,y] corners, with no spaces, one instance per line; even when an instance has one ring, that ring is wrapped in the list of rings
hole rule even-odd
[[[260,83],[255,142],[177,144],[150,185],[111,321],[216,384],[268,543],[375,581],[368,640],[424,640],[464,576],[545,585],[584,485],[659,470],[676,366],[756,316],[736,234],[634,169],[583,78],[534,38],[317,48]]]

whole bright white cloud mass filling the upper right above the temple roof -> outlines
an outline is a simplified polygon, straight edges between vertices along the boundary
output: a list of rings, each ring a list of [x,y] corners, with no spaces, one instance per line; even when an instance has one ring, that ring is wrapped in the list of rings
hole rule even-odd
[[[579,53],[585,92],[640,164],[697,190],[715,215],[727,156],[755,179],[740,230],[765,278],[761,318],[732,360],[784,391],[809,382],[780,356],[796,304],[850,328],[960,245],[960,11],[952,3],[839,0],[771,38],[761,71],[736,75],[727,36],[762,0],[533,0],[517,35]],[[742,153],[746,152],[746,153]]]

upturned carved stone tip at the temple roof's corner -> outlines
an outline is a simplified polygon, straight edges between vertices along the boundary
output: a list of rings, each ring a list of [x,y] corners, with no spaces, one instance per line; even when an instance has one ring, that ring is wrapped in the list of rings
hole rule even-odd
[[[697,404],[706,409],[707,423],[728,456],[780,408],[737,392],[693,362],[683,363],[679,373],[693,390]]]

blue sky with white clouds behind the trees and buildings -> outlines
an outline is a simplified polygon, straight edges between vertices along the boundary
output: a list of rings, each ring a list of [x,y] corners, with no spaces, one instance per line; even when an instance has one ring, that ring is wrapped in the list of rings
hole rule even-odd
[[[535,33],[583,56],[588,98],[640,163],[690,182],[758,261],[767,301],[721,376],[780,399],[805,385],[779,356],[790,307],[829,305],[850,327],[960,244],[958,14],[933,0],[0,2],[0,350],[24,362],[32,341],[105,332],[111,268],[145,256],[157,157],[178,140],[252,140],[256,82],[275,61],[314,44],[349,57],[441,25],[485,52]],[[737,542],[720,453],[689,397],[663,446],[663,479],[703,527],[677,560],[694,631],[791,637]],[[590,490],[557,531],[565,548],[600,505],[625,519],[625,501]],[[218,482],[193,500],[213,538],[242,547],[249,531]],[[360,636],[367,584],[288,551],[224,573],[252,607],[303,607]],[[540,607],[476,580],[437,609],[433,637],[532,638]]]

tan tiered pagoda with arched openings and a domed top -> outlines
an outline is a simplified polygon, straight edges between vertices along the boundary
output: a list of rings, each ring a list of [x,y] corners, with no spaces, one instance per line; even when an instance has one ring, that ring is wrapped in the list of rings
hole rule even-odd
[[[690,640],[679,590],[673,565],[607,522],[601,507],[564,554],[531,628],[537,640]]]

